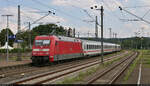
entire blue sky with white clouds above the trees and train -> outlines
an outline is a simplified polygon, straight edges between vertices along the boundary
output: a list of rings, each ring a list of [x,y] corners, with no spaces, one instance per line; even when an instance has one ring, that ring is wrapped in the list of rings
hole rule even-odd
[[[17,6],[21,7],[21,30],[28,29],[27,22],[47,15],[48,11],[54,12],[31,28],[46,23],[55,23],[66,29],[75,28],[80,37],[94,37],[95,16],[98,16],[100,24],[100,11],[90,9],[97,6],[104,7],[104,37],[110,37],[109,28],[113,33],[117,33],[118,38],[137,36],[150,37],[150,24],[143,21],[125,21],[138,19],[133,15],[120,11],[123,9],[150,21],[150,0],[0,0],[0,15],[11,14],[9,18],[9,28],[15,34],[17,32]],[[6,17],[0,16],[0,31],[6,28]],[[101,27],[98,27],[98,36],[100,37]],[[135,34],[139,32],[140,34]],[[89,35],[88,35],[89,33]],[[113,37],[113,36],[111,36]]]

